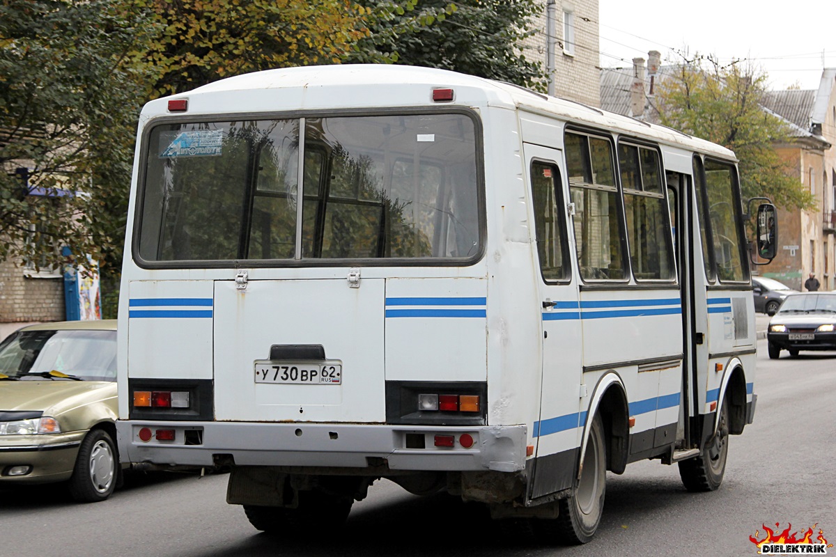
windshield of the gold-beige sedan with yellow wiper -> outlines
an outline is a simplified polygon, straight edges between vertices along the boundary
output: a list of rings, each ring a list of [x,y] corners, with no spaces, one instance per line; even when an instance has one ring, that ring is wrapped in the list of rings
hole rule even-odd
[[[59,372],[52,373],[50,372]],[[0,344],[0,374],[13,379],[116,380],[115,331],[22,331]]]

